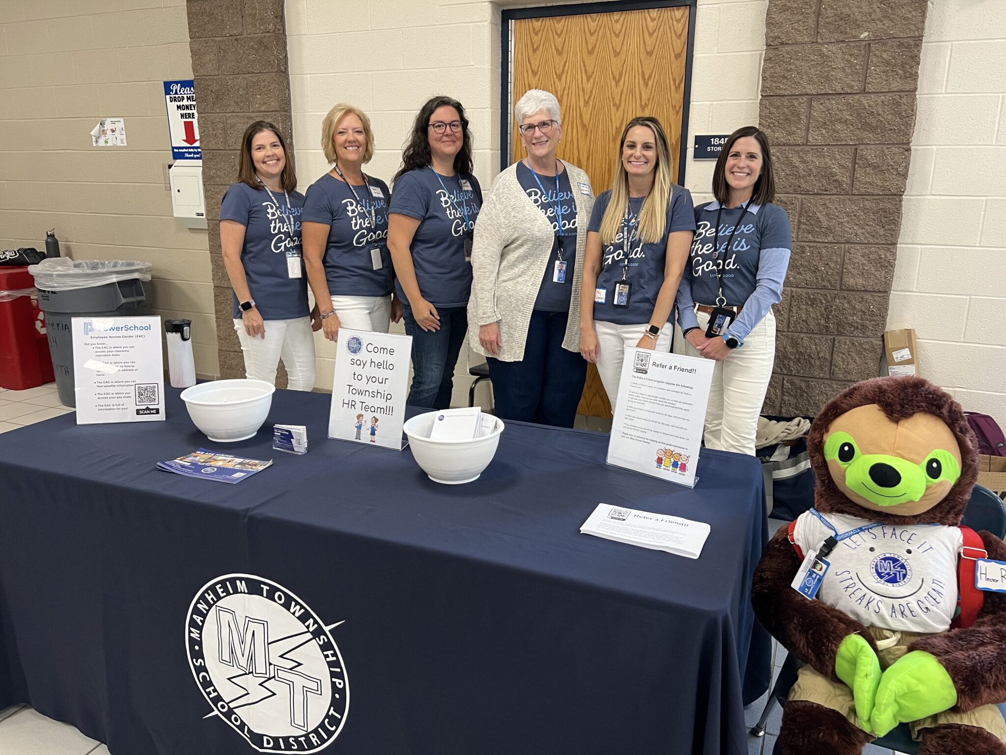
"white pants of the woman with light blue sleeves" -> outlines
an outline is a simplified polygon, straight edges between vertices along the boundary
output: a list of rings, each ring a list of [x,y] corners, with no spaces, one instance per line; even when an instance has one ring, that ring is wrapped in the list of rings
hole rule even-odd
[[[698,325],[705,333],[709,315],[696,310]],[[685,353],[701,356],[685,343]],[[705,413],[705,445],[720,451],[754,455],[754,434],[769,391],[772,365],[776,361],[776,315],[769,310],[754,329],[712,372],[709,408]]]

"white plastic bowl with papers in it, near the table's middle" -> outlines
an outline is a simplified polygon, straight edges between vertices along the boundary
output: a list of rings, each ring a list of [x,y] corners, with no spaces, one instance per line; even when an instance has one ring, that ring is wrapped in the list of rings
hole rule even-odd
[[[461,485],[479,478],[496,455],[500,434],[505,427],[498,417],[493,432],[472,440],[431,440],[434,419],[440,412],[427,412],[405,422],[412,457],[434,482]]]

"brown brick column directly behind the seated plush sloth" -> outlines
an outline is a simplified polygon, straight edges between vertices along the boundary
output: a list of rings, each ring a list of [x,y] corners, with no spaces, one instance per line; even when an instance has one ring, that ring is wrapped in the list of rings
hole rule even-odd
[[[926,0],[769,0],[760,123],[793,258],[770,414],[877,374],[908,175]]]

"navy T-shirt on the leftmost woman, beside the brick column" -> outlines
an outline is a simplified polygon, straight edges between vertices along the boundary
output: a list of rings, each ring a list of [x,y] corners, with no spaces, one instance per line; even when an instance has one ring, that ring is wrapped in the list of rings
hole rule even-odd
[[[254,189],[246,183],[234,183],[223,194],[220,219],[234,220],[244,226],[241,265],[248,291],[264,320],[293,320],[307,317],[308,283],[301,261],[301,212],[304,194],[290,191],[290,210],[282,191],[274,191],[276,203],[265,188]],[[288,274],[287,257],[296,257],[301,277]],[[233,316],[240,319],[237,295],[233,297]]]

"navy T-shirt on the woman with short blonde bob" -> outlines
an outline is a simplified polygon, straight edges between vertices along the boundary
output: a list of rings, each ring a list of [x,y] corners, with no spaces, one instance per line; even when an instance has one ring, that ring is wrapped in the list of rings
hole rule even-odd
[[[380,179],[367,177],[367,185],[353,184],[351,189],[331,173],[308,187],[303,219],[330,226],[324,263],[331,296],[387,296],[391,293],[394,271],[391,253],[387,250],[390,193],[387,184]],[[375,225],[371,225],[372,217],[376,220]],[[380,270],[374,270],[371,256],[374,248],[380,249]]]

